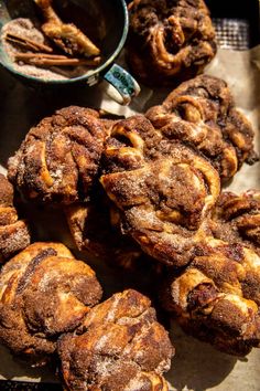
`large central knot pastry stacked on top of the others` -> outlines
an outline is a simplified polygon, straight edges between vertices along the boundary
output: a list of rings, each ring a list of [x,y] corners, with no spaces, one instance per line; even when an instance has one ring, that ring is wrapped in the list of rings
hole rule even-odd
[[[118,121],[104,152],[100,181],[121,212],[123,231],[169,265],[185,265],[206,235],[219,176],[191,148],[163,137],[144,116]]]

